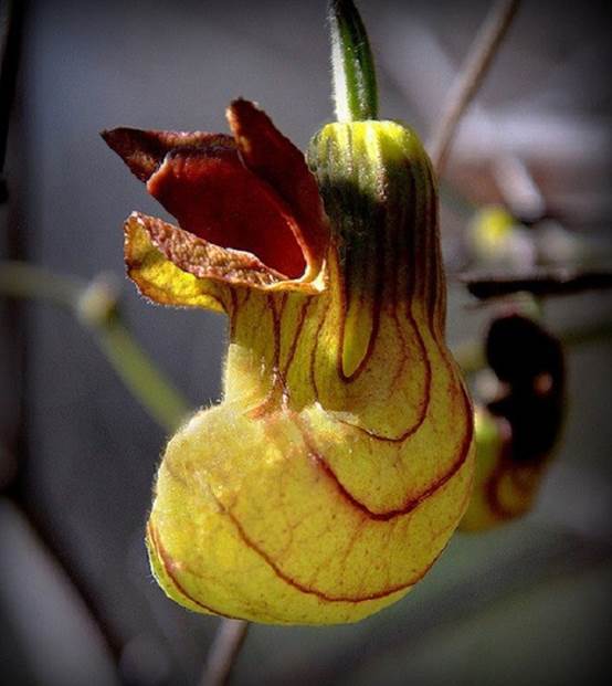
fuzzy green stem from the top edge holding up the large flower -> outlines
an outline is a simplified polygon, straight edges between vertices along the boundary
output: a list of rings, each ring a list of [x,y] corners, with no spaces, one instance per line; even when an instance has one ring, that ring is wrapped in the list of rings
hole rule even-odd
[[[338,122],[378,117],[378,88],[370,43],[352,0],[329,2],[334,102]]]

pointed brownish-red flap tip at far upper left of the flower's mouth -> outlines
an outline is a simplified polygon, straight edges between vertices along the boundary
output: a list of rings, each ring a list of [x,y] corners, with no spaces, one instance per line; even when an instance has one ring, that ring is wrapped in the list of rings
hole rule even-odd
[[[203,131],[143,131],[124,127],[102,131],[101,135],[140,181],[148,181],[166,155],[175,148],[235,149],[231,136]]]

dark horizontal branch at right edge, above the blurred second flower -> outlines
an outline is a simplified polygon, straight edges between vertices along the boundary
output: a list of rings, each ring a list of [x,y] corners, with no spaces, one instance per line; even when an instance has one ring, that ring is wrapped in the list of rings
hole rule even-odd
[[[612,288],[612,272],[551,270],[523,276],[465,274],[461,281],[474,297],[487,300],[515,293],[530,293],[535,296],[572,295],[582,291]]]

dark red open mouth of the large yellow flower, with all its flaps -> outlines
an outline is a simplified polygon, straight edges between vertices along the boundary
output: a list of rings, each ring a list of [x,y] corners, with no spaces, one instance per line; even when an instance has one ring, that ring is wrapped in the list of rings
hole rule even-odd
[[[226,115],[233,137],[126,127],[102,133],[179,224],[133,214],[128,271],[129,234],[139,224],[168,260],[199,278],[320,292],[329,226],[304,155],[253,103],[234,101]]]

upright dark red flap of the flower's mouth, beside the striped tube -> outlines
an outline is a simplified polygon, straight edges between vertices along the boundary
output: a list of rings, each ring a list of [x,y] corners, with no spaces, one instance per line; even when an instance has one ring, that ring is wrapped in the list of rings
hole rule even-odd
[[[317,182],[304,155],[249,101],[234,101],[228,109],[228,119],[244,163],[267,181],[291,208],[297,221],[296,238],[308,262],[318,268],[327,249],[329,228]]]

